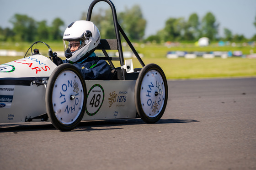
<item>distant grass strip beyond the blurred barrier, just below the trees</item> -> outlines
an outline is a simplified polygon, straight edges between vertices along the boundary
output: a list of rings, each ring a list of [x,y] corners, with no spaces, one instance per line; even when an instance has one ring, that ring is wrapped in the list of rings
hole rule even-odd
[[[52,49],[53,51],[62,51],[63,50],[63,44],[62,42],[47,42],[45,41]],[[26,52],[27,49],[32,45],[32,43],[28,42],[19,42],[19,43],[12,43],[12,42],[0,42],[0,49],[5,50],[17,50],[17,51],[24,51]],[[256,53],[256,46],[250,46],[246,45],[243,46],[242,44],[237,44],[235,47],[233,46],[218,46],[216,43],[213,43],[207,47],[199,47],[195,46],[194,44],[180,44],[179,46],[172,46],[172,47],[166,47],[165,45],[159,45],[159,44],[134,44],[135,49],[138,51],[138,53],[144,54],[145,57],[165,57],[168,51],[187,51],[187,52],[193,52],[193,51],[242,51],[243,54],[247,55],[250,54],[251,51]],[[37,45],[34,45],[34,48],[39,49],[42,52],[47,52],[48,48],[43,43],[38,43]],[[123,51],[130,50],[128,46],[123,47]]]

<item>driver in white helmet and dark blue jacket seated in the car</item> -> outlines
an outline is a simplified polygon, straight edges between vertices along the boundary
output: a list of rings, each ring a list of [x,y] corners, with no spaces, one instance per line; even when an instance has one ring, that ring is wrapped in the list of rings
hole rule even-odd
[[[94,53],[100,40],[100,32],[91,21],[75,21],[67,27],[63,35],[66,60],[55,56],[53,62],[56,65],[75,65],[85,80],[109,80],[110,65],[105,60],[99,60]]]

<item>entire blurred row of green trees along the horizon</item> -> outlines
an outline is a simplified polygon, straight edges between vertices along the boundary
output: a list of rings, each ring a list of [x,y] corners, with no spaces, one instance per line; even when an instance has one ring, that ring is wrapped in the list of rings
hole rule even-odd
[[[80,19],[86,20],[86,16],[84,12]],[[131,9],[125,8],[123,12],[117,14],[117,18],[129,39],[137,42],[197,41],[200,37],[208,37],[212,41],[247,41],[244,35],[233,35],[228,28],[224,28],[224,37],[219,37],[219,23],[211,12],[204,15],[202,20],[196,13],[191,14],[188,20],[184,17],[169,18],[162,30],[146,38],[144,37],[146,20],[139,5],[134,5]],[[93,13],[91,21],[99,28],[102,38],[116,38],[111,10],[99,10]],[[60,18],[54,19],[51,25],[48,25],[46,20],[38,22],[20,14],[15,14],[10,22],[13,29],[0,27],[0,41],[60,41],[64,32],[61,27],[65,26]],[[256,26],[256,18],[253,24]],[[256,35],[250,40],[256,40]]]

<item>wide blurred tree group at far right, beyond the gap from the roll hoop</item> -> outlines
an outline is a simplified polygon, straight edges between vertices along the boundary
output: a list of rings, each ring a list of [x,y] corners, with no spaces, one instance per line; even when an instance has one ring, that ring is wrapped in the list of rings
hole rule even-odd
[[[256,17],[254,25],[256,26]],[[210,40],[225,41],[248,41],[244,35],[233,35],[231,30],[224,28],[224,37],[219,36],[219,23],[215,16],[208,12],[202,20],[196,13],[189,16],[188,20],[181,18],[169,18],[165,22],[165,27],[155,35],[146,38],[147,41],[197,41],[201,37],[208,37]],[[249,40],[256,41],[256,34]]]

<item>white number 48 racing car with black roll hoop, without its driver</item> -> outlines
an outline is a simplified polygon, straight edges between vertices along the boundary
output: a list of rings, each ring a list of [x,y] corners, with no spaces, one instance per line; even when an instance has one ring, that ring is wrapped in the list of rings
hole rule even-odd
[[[30,55],[0,65],[0,123],[48,121],[61,131],[70,131],[82,120],[129,119],[140,117],[155,123],[164,114],[168,100],[167,80],[159,65],[145,65],[117,22],[115,6],[110,0],[94,0],[86,20],[96,3],[110,5],[116,39],[100,40],[102,50],[112,68],[110,80],[84,80],[72,64],[55,65],[49,45],[37,41],[28,49]],[[142,68],[134,68],[132,60],[123,58],[120,33],[139,60]],[[33,45],[47,45],[49,56],[40,55]],[[117,50],[110,57],[107,50]],[[119,61],[115,67],[112,61]]]

